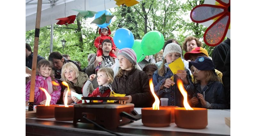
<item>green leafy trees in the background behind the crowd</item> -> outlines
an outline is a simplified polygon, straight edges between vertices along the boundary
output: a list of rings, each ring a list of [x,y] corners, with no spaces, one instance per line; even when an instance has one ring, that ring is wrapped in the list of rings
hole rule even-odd
[[[203,35],[207,29],[201,24],[194,23],[189,18],[190,11],[204,0],[188,0],[186,2],[177,0],[142,0],[139,4],[131,7],[120,6],[110,10],[115,19],[109,25],[112,36],[118,28],[127,28],[134,39],[142,39],[143,36],[152,30],[161,32],[165,41],[170,38],[177,39],[180,44],[184,39],[193,35],[199,38],[203,44]],[[187,19],[189,18],[189,19]],[[99,27],[90,25],[84,18],[76,18],[75,24],[54,25],[53,51],[62,53],[60,40],[65,39],[66,47],[64,54],[69,54],[71,60],[80,61],[82,68],[88,64],[87,56],[96,53],[94,40],[97,36]],[[34,46],[35,30],[26,32],[26,42]],[[50,26],[40,29],[38,54],[48,59],[50,54]],[[214,47],[203,46],[212,55]]]

